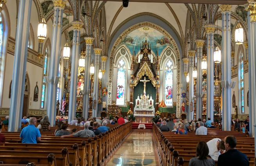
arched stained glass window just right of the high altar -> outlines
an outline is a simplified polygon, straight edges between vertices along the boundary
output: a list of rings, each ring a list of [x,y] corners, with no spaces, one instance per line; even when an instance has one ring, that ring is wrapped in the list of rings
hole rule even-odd
[[[172,93],[173,93],[173,66],[172,62],[168,60],[165,65],[165,104],[172,106]]]

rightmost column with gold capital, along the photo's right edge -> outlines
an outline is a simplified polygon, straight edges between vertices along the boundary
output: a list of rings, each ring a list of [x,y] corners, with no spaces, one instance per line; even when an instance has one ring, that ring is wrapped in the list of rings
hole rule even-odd
[[[247,23],[248,23],[248,72],[249,72],[249,118],[250,118],[250,137],[255,137],[256,122],[256,0],[248,0]],[[256,153],[256,152],[255,152]]]

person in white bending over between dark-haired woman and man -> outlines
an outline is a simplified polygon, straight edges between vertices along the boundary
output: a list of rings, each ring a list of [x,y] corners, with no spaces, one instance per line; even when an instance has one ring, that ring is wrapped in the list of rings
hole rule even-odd
[[[209,148],[209,156],[215,161],[218,160],[218,156],[220,154],[225,153],[225,145],[224,140],[220,140],[220,138],[213,138],[207,142]]]

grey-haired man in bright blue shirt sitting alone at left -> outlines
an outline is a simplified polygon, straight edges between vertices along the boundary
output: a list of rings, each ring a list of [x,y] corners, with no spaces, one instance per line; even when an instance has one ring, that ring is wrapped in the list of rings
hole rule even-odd
[[[20,140],[22,143],[37,143],[41,141],[41,134],[38,128],[36,128],[36,118],[29,119],[29,125],[24,127],[20,133]]]

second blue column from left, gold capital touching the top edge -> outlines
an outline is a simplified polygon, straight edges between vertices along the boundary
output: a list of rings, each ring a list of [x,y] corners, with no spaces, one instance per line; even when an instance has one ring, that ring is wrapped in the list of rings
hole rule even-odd
[[[54,83],[55,76],[58,76],[59,58],[61,48],[61,30],[63,9],[66,6],[66,0],[54,0],[54,20],[52,28],[52,49],[50,56],[49,85],[47,94],[47,115],[50,120],[50,126],[55,126],[57,85]]]

